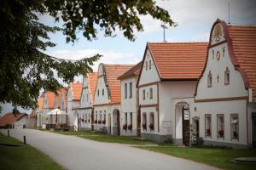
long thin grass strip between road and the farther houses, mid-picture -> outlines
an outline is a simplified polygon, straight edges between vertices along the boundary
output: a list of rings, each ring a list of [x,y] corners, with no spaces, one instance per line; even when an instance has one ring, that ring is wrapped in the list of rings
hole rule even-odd
[[[54,131],[55,133],[74,135],[84,139],[96,140],[99,142],[107,142],[107,143],[119,143],[119,144],[155,144],[149,140],[139,139],[137,137],[130,136],[112,136],[106,133],[101,133],[97,131],[79,131],[79,132],[64,132],[64,131]]]

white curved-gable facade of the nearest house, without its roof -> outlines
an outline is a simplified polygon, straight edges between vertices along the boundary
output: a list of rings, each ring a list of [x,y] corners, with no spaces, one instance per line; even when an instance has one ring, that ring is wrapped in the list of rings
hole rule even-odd
[[[214,35],[215,32],[220,36]],[[222,24],[213,25],[207,64],[198,82],[196,109],[191,116],[199,117],[199,134],[206,144],[247,148],[252,144],[248,90],[241,72],[231,61],[233,52],[229,42],[224,42],[225,36]]]

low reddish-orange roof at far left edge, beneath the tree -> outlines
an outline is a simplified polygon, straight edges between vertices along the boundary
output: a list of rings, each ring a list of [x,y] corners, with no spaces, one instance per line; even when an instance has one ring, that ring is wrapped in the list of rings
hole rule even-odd
[[[15,124],[23,116],[27,116],[25,113],[19,113],[14,115],[13,113],[6,113],[0,118],[0,127],[4,127],[7,124]]]

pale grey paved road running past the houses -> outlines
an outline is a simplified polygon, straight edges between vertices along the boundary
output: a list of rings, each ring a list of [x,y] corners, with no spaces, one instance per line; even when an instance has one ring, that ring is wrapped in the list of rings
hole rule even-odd
[[[6,130],[1,130],[7,133]],[[53,158],[67,169],[87,170],[172,170],[215,169],[204,164],[140,150],[123,144],[107,144],[79,137],[32,129],[10,130],[10,135]],[[40,158],[38,158],[40,159]]]

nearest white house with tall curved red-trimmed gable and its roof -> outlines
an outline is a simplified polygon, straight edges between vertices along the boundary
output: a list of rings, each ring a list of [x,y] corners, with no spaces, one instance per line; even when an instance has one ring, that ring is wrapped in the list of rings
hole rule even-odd
[[[256,144],[255,102],[256,26],[228,26],[217,20],[191,114],[197,117],[199,136],[205,144]]]

